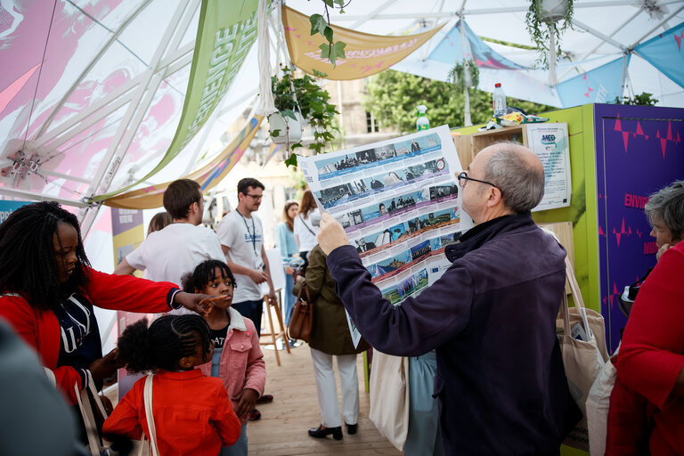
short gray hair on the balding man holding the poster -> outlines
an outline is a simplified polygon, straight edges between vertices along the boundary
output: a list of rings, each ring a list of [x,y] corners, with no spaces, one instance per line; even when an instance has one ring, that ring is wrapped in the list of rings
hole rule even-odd
[[[544,172],[531,167],[521,157],[519,142],[497,142],[500,150],[492,154],[485,167],[485,181],[501,190],[503,203],[516,214],[523,214],[539,204],[544,196]]]

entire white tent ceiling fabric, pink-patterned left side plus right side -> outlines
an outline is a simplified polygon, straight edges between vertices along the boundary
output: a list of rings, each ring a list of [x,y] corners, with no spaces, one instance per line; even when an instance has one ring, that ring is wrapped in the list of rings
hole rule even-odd
[[[92,196],[93,186],[110,172],[107,158],[112,148],[127,142],[111,175],[110,190],[135,182],[155,167],[183,110],[200,4],[201,0],[0,2],[0,196],[84,206],[81,199]],[[287,5],[306,15],[323,12],[320,0],[289,0]],[[449,53],[444,61],[430,55],[444,43],[461,9],[476,36],[533,45],[525,29],[527,7],[527,0],[352,0],[345,14],[330,12],[330,20],[364,33],[395,36],[445,24],[426,45],[393,67],[444,80],[453,64]],[[670,78],[678,78],[684,68],[684,50],[672,48],[673,42],[666,53],[657,40],[644,45],[683,22],[682,0],[575,0],[575,29],[560,38],[572,62],[559,63],[558,80],[576,80],[636,48],[626,78],[631,91],[655,94],[663,105],[684,106],[684,89]],[[684,34],[675,30],[668,37],[676,40]],[[485,44],[522,67],[532,67],[536,60],[534,51],[486,40]],[[671,66],[665,73],[653,66],[662,61]],[[252,50],[208,124],[141,187],[189,174],[199,153],[206,155],[208,144],[253,103],[246,93],[256,93],[258,78]],[[493,83],[501,81],[509,96],[562,106],[557,89],[546,85],[547,80],[541,69],[483,69],[480,88],[492,90]],[[132,109],[141,106],[145,108]]]

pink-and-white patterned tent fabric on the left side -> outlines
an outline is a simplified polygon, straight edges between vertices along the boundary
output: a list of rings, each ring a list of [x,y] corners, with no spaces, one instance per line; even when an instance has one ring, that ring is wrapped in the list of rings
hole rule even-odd
[[[256,9],[256,0],[247,1]],[[200,4],[3,1],[0,61],[10,64],[0,71],[0,194],[84,207],[106,190],[98,189],[103,180],[116,190],[147,175],[181,118]],[[254,53],[244,66],[168,165],[171,174],[162,170],[139,187],[188,174],[199,151],[243,113],[255,95],[243,96],[252,88],[245,80],[257,74]]]

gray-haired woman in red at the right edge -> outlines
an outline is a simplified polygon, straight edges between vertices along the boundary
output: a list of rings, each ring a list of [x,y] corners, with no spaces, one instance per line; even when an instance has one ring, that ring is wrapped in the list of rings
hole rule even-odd
[[[658,264],[639,290],[617,355],[606,454],[684,454],[684,181],[648,199]]]

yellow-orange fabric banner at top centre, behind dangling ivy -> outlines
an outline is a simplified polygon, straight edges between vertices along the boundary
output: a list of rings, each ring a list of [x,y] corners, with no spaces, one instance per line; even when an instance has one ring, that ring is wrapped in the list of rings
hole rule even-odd
[[[289,58],[310,75],[314,69],[322,71],[327,79],[339,81],[361,79],[388,69],[396,62],[418,49],[444,26],[427,32],[403,37],[386,37],[357,32],[349,28],[330,26],[336,41],[346,43],[344,59],[338,59],[333,68],[328,59],[321,58],[319,45],[325,39],[316,34],[311,36],[309,17],[287,6],[282,7],[282,24],[288,43]]]

